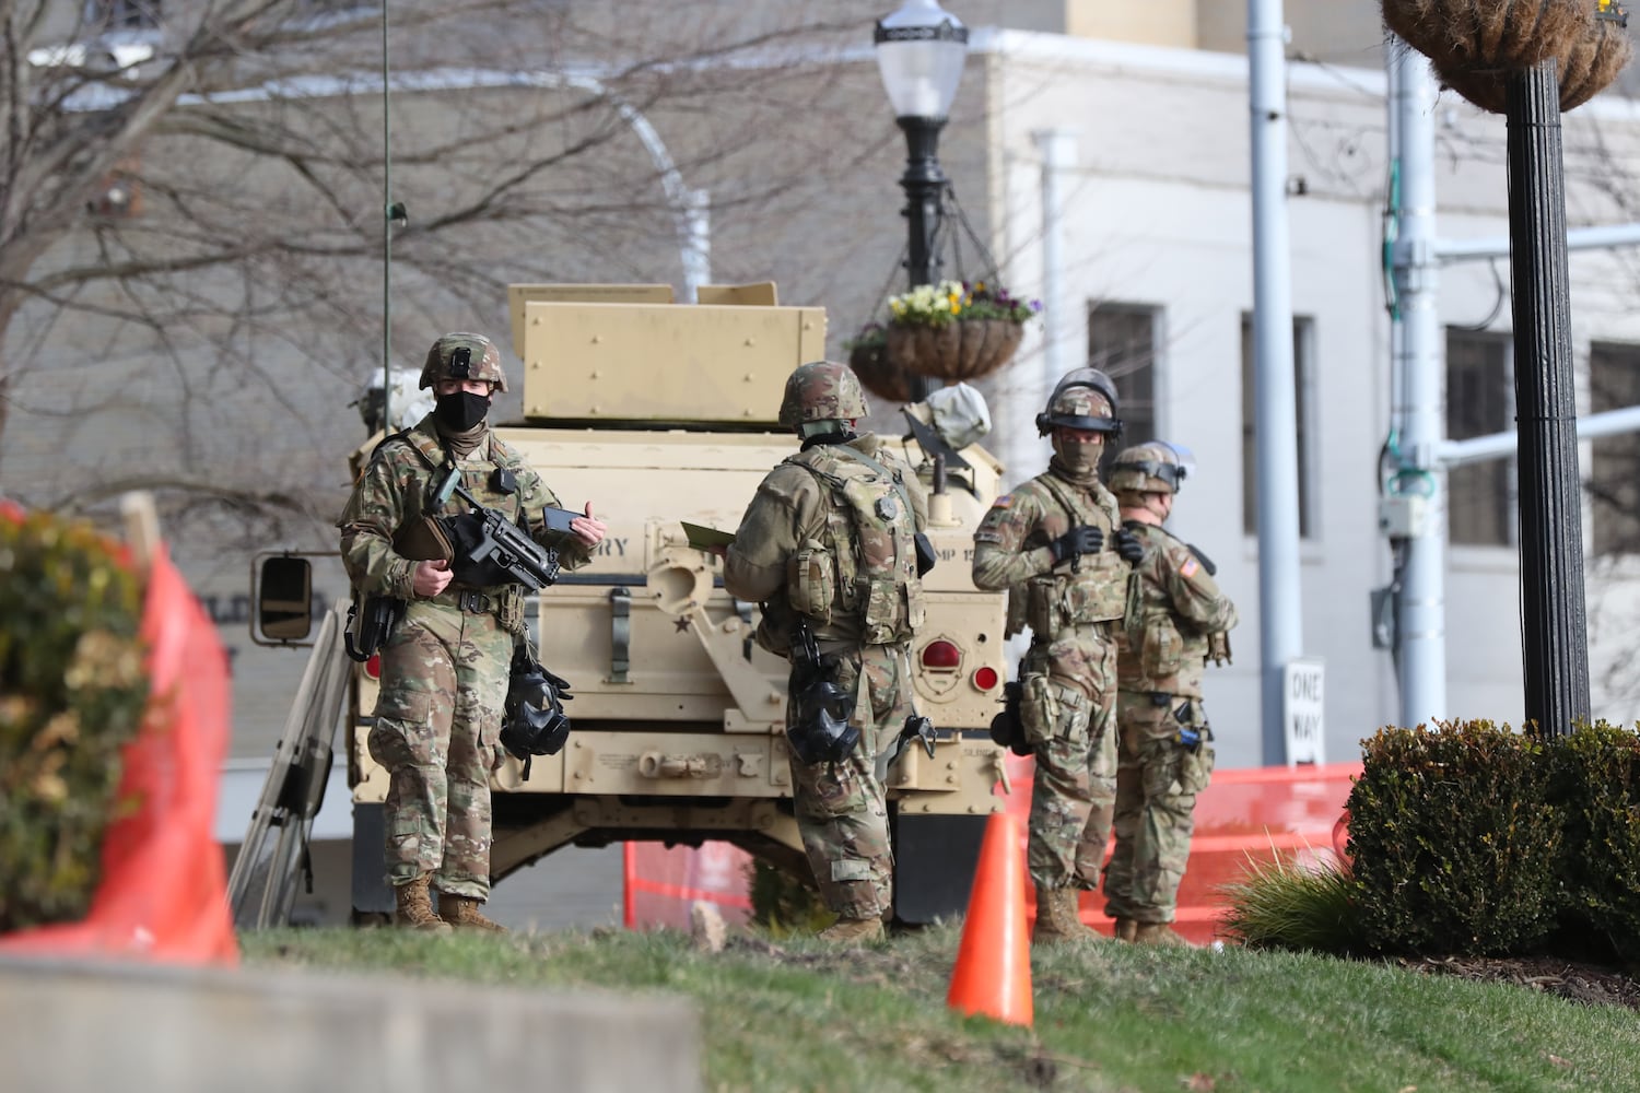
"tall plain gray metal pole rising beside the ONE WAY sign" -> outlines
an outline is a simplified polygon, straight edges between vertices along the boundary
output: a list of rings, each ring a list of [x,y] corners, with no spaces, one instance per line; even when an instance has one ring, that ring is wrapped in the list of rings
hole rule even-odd
[[[1263,764],[1287,762],[1282,678],[1304,649],[1297,390],[1287,234],[1286,41],[1281,0],[1248,0],[1253,123],[1253,359],[1258,401],[1258,606]]]

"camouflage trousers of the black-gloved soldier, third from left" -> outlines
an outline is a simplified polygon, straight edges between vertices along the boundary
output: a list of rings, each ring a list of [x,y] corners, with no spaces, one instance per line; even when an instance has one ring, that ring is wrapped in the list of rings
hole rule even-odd
[[[1117,796],[1115,644],[1061,639],[1033,647],[1020,667],[1020,723],[1036,755],[1025,849],[1032,883],[1097,891]]]

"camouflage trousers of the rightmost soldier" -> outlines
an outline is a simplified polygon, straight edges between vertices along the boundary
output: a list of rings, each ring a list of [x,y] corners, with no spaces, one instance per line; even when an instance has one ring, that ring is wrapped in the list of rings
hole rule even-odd
[[[1194,751],[1179,741],[1179,710],[1202,734]],[[1105,872],[1105,914],[1171,923],[1191,857],[1196,795],[1214,772],[1200,698],[1122,692],[1117,762],[1117,849]]]

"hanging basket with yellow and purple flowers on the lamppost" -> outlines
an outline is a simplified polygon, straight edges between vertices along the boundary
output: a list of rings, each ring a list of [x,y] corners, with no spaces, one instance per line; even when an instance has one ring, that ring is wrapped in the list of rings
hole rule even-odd
[[[1025,320],[1040,310],[984,282],[918,285],[889,298],[887,359],[932,379],[979,379],[1014,359]]]

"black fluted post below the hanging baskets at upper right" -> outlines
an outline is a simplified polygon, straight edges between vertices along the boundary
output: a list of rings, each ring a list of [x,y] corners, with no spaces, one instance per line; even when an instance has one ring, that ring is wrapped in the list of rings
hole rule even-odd
[[[1525,716],[1565,736],[1589,719],[1589,647],[1555,61],[1510,75],[1506,105]]]

